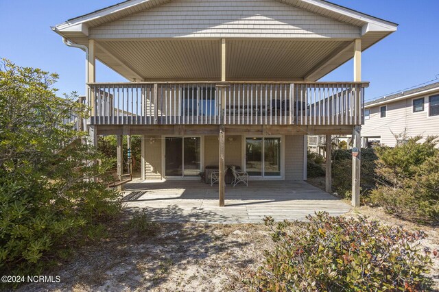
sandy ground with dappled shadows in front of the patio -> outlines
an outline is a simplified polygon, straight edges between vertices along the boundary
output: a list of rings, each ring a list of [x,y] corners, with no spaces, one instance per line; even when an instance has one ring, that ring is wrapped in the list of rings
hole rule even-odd
[[[58,267],[60,283],[19,291],[242,291],[241,271],[272,247],[262,224],[161,224],[153,239],[112,239],[81,250]]]

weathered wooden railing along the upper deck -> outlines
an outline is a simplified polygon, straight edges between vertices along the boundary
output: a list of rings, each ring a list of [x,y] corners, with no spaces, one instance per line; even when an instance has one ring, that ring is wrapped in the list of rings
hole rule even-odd
[[[92,125],[361,125],[367,82],[88,84]]]

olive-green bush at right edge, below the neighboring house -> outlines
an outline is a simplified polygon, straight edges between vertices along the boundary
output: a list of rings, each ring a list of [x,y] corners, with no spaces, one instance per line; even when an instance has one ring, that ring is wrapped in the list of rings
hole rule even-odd
[[[439,223],[439,150],[436,137],[409,138],[377,149],[381,185],[370,199],[387,212],[420,223]]]

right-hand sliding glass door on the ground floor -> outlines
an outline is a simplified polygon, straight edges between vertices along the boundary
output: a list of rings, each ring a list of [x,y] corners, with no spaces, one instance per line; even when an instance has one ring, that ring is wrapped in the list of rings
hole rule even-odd
[[[246,171],[261,177],[281,176],[281,138],[246,138]]]

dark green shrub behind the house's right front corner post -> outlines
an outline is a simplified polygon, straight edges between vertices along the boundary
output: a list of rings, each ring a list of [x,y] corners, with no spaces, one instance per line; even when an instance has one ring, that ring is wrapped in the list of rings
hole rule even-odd
[[[333,151],[332,176],[333,191],[346,199],[352,193],[352,152],[351,150]],[[377,155],[373,148],[361,149],[361,200],[364,202],[376,185],[375,168],[377,167]]]

